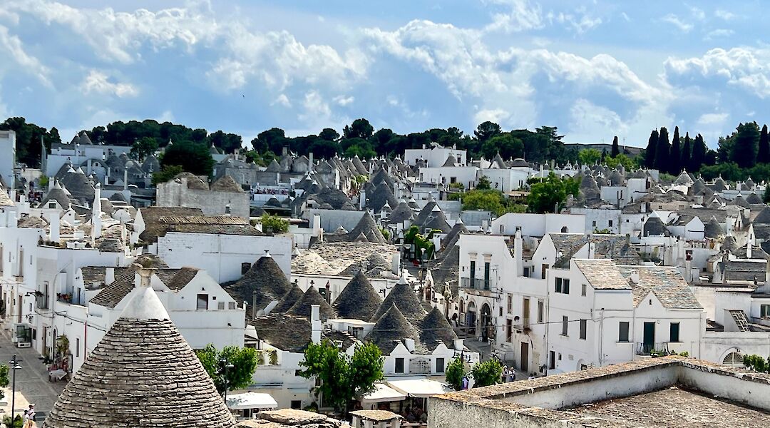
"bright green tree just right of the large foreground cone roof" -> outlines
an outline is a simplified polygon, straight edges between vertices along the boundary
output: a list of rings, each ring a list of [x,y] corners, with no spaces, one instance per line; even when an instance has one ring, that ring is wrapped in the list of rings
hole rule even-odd
[[[227,390],[242,390],[251,385],[256,370],[256,349],[225,346],[218,350],[209,343],[205,348],[196,351],[196,356],[203,364],[203,369],[214,381],[216,390],[224,393]],[[226,369],[226,365],[232,367]],[[226,370],[225,370],[226,369]],[[227,377],[225,377],[225,371]]]

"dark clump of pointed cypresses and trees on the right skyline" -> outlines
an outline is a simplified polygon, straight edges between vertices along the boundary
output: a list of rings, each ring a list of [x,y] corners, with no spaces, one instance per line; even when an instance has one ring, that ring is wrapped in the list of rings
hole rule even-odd
[[[739,124],[731,135],[720,137],[716,150],[708,149],[703,136],[680,135],[679,127],[669,138],[668,129],[651,132],[644,151],[644,166],[678,175],[683,169],[699,172],[704,179],[721,176],[729,181],[770,179],[768,127],[757,122]]]

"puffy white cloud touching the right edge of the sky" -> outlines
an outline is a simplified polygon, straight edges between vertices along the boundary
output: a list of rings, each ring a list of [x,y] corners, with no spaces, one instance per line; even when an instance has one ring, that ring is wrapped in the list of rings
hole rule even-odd
[[[758,95],[770,96],[770,50],[763,48],[715,48],[699,58],[675,59],[664,62],[669,81],[684,79],[698,84],[703,79],[724,81]]]

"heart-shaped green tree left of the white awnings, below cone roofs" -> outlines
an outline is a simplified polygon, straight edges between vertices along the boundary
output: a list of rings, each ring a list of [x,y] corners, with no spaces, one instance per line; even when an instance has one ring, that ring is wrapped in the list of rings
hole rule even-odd
[[[374,390],[375,383],[383,379],[382,353],[373,343],[357,346],[353,356],[328,340],[310,343],[300,366],[304,367],[300,376],[318,380],[314,390],[323,397],[323,403],[345,412],[351,400]]]

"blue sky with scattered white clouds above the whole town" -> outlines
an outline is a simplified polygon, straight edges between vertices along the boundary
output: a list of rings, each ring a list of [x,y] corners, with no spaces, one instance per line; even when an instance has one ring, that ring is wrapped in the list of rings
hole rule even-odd
[[[753,2],[5,0],[0,117],[62,138],[115,120],[243,135],[365,117],[416,132],[484,120],[715,146],[768,120],[770,12]],[[737,3],[737,4],[731,4]]]

